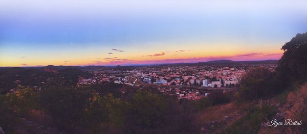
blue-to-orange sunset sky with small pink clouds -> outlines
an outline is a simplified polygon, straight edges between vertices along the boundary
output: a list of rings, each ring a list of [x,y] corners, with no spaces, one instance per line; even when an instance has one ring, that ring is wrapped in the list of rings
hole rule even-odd
[[[278,60],[304,1],[0,1],[0,66]]]

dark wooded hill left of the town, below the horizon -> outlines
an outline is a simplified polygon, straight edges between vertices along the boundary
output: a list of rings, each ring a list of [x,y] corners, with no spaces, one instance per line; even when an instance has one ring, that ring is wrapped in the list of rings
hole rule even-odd
[[[40,89],[61,84],[76,85],[79,77],[89,78],[91,76],[91,73],[74,68],[5,68],[0,69],[0,94],[5,94],[18,85]]]

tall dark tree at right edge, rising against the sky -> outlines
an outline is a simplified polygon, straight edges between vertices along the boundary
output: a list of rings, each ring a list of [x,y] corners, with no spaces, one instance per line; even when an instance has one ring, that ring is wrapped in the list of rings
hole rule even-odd
[[[297,34],[281,49],[283,56],[278,61],[277,78],[281,88],[291,83],[302,84],[307,81],[307,32]]]

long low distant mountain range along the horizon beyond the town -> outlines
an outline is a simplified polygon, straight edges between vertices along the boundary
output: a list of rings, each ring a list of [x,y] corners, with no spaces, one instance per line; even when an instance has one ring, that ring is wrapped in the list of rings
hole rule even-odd
[[[198,63],[169,63],[169,64],[155,64],[155,65],[129,65],[129,66],[43,66],[43,67],[21,67],[21,68],[32,68],[32,69],[53,69],[53,70],[62,70],[68,68],[82,69],[82,70],[98,70],[98,69],[115,69],[115,70],[130,70],[138,66],[165,66],[165,65],[242,65],[242,64],[277,64],[278,60],[265,60],[265,61],[231,61],[231,60],[215,60],[207,62],[198,62]],[[0,67],[0,69],[9,68],[9,67]]]

